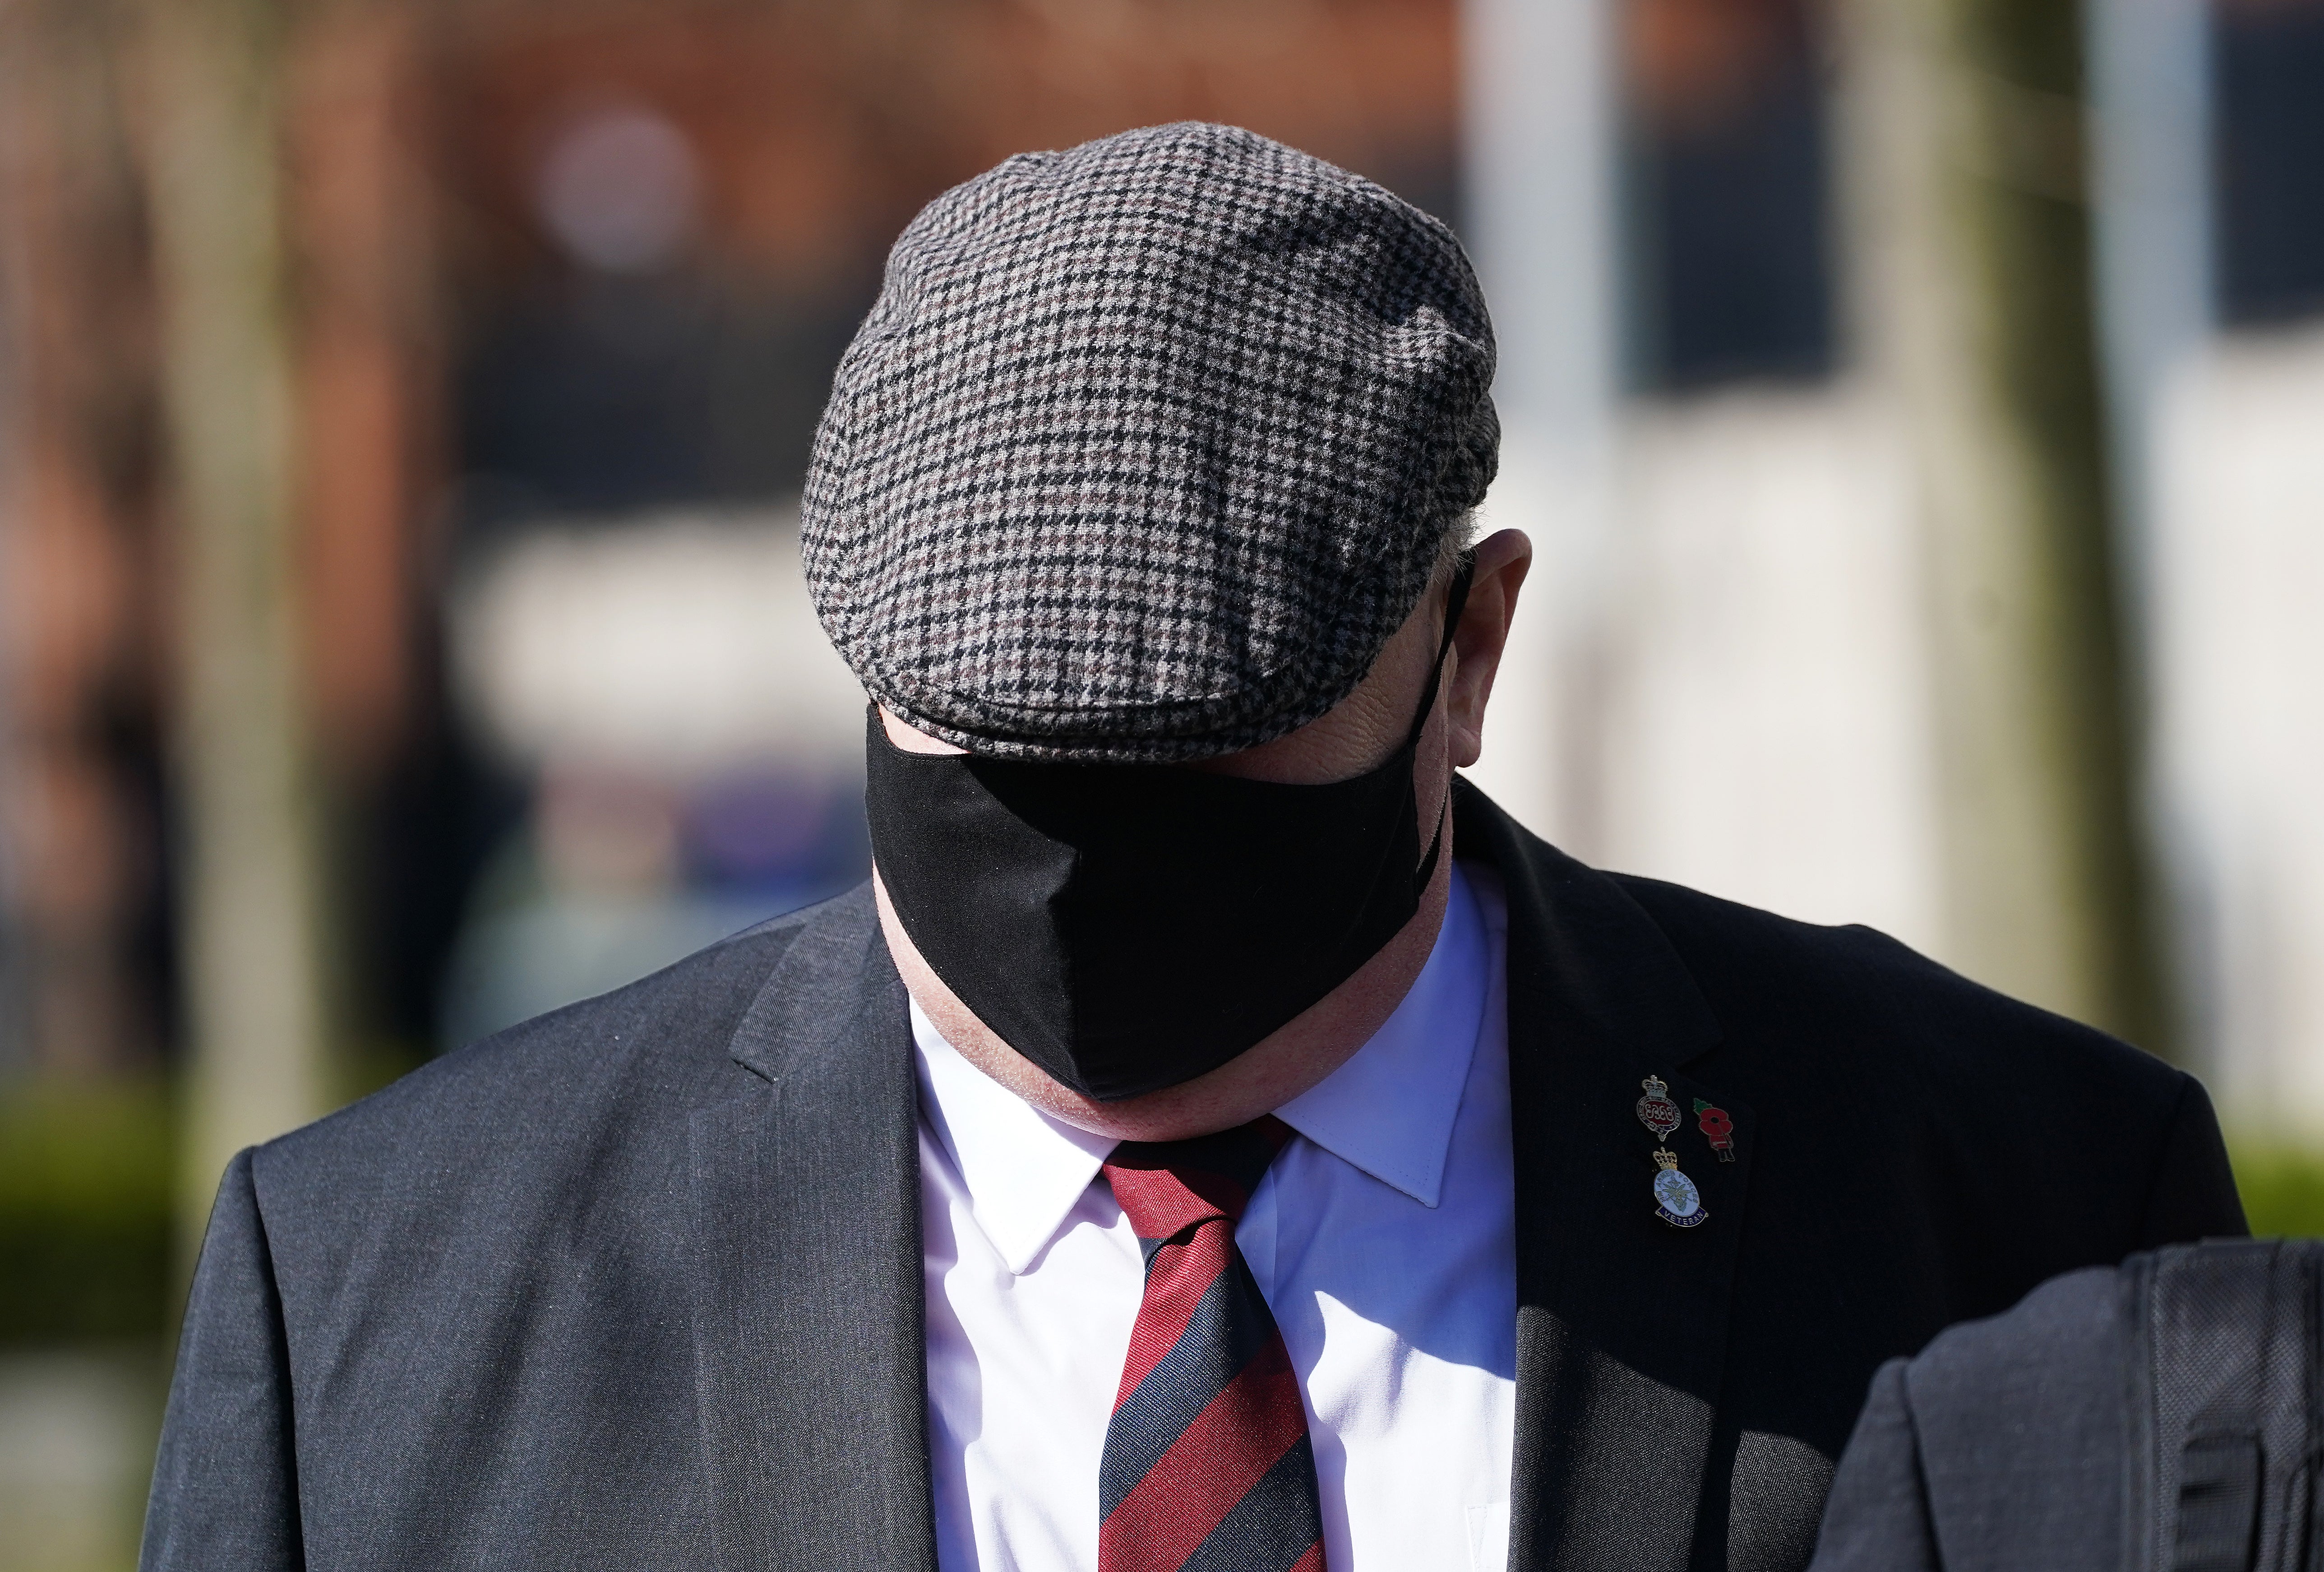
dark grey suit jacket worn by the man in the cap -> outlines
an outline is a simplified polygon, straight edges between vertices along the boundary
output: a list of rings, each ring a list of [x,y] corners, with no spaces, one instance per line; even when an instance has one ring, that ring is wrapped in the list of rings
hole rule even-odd
[[[1885,1358],[2240,1230],[2185,1074],[1455,814],[1511,919],[1515,1567],[1796,1570]],[[235,1158],[144,1565],[932,1567],[904,1005],[858,891]],[[1687,1232],[1645,1074],[1734,1119]]]

